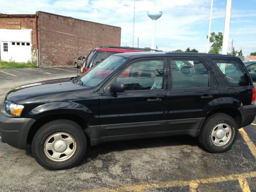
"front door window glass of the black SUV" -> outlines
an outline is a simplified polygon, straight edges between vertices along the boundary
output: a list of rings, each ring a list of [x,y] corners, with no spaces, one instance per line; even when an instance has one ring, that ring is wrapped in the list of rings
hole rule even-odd
[[[163,74],[163,60],[138,61],[127,67],[114,81],[123,82],[125,91],[161,90]]]

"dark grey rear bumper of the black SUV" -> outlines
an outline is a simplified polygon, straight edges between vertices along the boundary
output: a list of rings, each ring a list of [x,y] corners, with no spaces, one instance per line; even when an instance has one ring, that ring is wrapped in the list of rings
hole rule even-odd
[[[242,115],[240,127],[247,126],[252,123],[256,115],[256,104],[245,105],[238,108]]]

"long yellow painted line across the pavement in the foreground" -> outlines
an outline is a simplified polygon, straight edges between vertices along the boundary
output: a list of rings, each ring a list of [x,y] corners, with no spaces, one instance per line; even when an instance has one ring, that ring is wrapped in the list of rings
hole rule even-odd
[[[243,174],[232,174],[227,176],[221,176],[221,177],[212,177],[212,178],[205,178],[205,179],[196,179],[196,180],[190,180],[190,181],[168,181],[168,182],[161,182],[161,183],[141,183],[141,184],[135,184],[130,186],[119,186],[114,188],[100,188],[100,189],[93,189],[93,190],[84,190],[84,191],[90,191],[90,192],[101,192],[101,191],[143,191],[145,189],[150,188],[162,188],[162,187],[175,187],[175,186],[184,186],[189,185],[191,189],[194,189],[199,184],[209,184],[209,183],[219,183],[219,182],[225,182],[225,181],[233,181],[233,180],[241,180],[242,183],[244,183],[243,191],[246,190],[246,187],[248,183],[245,183],[246,178],[254,178],[256,177],[256,172],[248,172]],[[242,188],[241,186],[241,188]],[[248,188],[247,188],[248,189]]]

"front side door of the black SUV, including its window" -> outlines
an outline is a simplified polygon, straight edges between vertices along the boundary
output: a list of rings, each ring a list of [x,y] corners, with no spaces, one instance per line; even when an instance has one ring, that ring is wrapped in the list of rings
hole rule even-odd
[[[142,59],[130,62],[100,91],[99,118],[102,136],[150,134],[163,131],[167,103],[167,60]],[[125,90],[111,93],[113,82]],[[137,135],[136,135],[137,134]]]

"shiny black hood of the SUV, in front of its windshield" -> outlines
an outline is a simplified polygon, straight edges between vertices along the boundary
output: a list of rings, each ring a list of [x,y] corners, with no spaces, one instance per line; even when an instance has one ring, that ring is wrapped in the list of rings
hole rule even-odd
[[[7,93],[6,100],[18,103],[28,98],[40,97],[42,101],[53,94],[58,94],[56,99],[63,100],[68,93],[83,89],[87,88],[71,82],[70,78],[53,79],[19,86]]]

